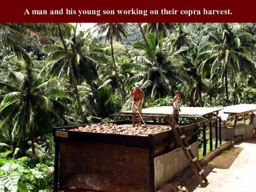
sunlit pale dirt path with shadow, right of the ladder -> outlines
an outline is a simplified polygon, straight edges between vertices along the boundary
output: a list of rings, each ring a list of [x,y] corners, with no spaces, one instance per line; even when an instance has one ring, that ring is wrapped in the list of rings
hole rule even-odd
[[[183,186],[188,192],[256,192],[256,139],[243,140],[203,167],[208,183],[202,188],[195,177]]]

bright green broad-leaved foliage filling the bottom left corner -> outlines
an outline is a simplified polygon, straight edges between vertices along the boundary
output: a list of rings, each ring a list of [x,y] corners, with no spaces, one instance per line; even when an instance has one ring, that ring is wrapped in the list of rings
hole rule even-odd
[[[29,158],[7,158],[11,151],[0,155],[0,189],[9,192],[49,191],[53,182],[53,167],[36,164],[31,168]]]

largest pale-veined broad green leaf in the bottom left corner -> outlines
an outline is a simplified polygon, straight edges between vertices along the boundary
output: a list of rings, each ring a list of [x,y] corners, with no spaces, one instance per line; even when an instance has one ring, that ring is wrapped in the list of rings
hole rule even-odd
[[[9,175],[0,175],[1,183],[6,186],[9,191],[17,192],[18,180],[20,179],[20,173],[18,171],[11,172]]]

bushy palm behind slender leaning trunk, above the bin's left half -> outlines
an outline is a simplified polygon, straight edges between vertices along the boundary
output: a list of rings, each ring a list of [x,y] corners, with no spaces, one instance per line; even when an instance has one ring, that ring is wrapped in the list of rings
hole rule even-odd
[[[70,75],[71,82],[75,84],[76,87],[77,84],[80,84],[84,80],[92,86],[92,81],[98,78],[98,61],[106,61],[103,55],[103,50],[97,48],[95,44],[91,42],[92,37],[90,30],[85,32],[80,31],[76,35],[75,32],[77,26],[71,27],[74,32],[71,33],[69,39],[65,39],[65,46],[68,49],[69,57],[71,59],[75,82],[73,82],[70,73],[68,57],[66,57],[65,46],[62,42],[55,42],[54,45],[44,48],[46,52],[49,52],[49,63],[45,68],[50,74],[58,76],[60,79],[64,79],[67,75]],[[74,36],[76,37],[74,38]],[[76,88],[74,89],[76,90]],[[75,93],[78,100],[79,92],[77,91]],[[96,97],[97,95],[94,93],[94,96]],[[80,104],[78,103],[78,105]],[[82,107],[79,107],[79,109],[81,113]]]

